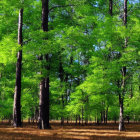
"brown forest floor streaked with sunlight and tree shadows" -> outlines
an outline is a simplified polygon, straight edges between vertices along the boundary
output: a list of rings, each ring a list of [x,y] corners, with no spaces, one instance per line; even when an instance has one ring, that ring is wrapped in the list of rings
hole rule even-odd
[[[125,124],[124,132],[118,124],[90,124],[80,126],[51,122],[51,129],[39,130],[36,124],[24,123],[22,128],[13,128],[0,123],[0,140],[140,140],[140,123]]]

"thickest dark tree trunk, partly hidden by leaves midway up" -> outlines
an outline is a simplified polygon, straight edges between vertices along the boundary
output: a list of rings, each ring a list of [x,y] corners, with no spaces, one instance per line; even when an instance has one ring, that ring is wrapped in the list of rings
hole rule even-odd
[[[42,30],[48,31],[48,14],[49,14],[49,0],[42,0]],[[45,59],[49,61],[49,55],[45,55]],[[49,73],[49,65],[46,67]],[[48,129],[49,124],[49,74],[40,82],[40,96],[39,96],[39,128]]]

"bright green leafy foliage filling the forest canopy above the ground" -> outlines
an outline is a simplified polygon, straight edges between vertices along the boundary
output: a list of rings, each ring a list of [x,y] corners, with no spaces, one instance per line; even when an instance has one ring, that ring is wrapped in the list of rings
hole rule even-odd
[[[125,116],[140,114],[140,22],[138,3],[129,3],[127,28],[122,24],[122,2],[114,1],[113,16],[104,0],[51,0],[49,31],[41,30],[41,1],[0,1],[0,118],[10,119],[15,85],[18,12],[24,8],[22,61],[22,118],[38,110],[39,83],[50,75],[51,119],[100,120],[119,117],[118,94],[125,77]],[[47,38],[47,39],[46,39]],[[124,48],[124,39],[128,39]],[[50,62],[38,60],[50,54]],[[62,63],[62,72],[60,72]],[[46,71],[46,66],[50,70]],[[63,76],[63,79],[60,78]],[[132,90],[131,90],[132,89]],[[133,94],[132,97],[130,95]]]

